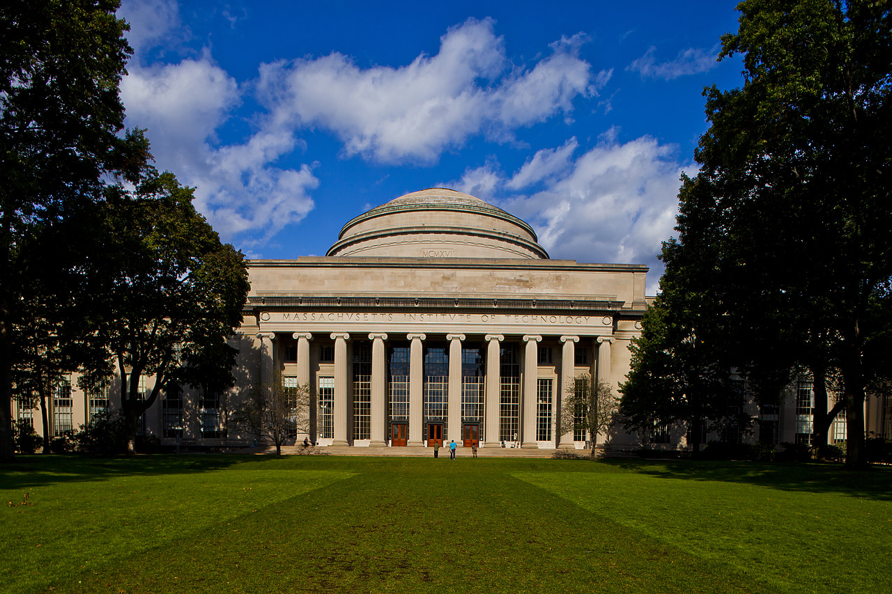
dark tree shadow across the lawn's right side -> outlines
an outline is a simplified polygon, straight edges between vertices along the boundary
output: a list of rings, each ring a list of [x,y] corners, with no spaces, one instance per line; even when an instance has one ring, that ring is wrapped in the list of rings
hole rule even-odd
[[[601,463],[659,478],[754,484],[780,491],[892,500],[892,468],[885,467],[847,470],[834,464],[703,460],[603,460]]]

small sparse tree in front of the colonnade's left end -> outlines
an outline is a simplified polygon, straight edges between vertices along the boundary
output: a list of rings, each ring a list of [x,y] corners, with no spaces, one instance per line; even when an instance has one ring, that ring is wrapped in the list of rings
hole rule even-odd
[[[277,372],[271,384],[261,384],[252,397],[235,408],[230,421],[260,441],[272,441],[276,454],[289,438],[310,433],[310,386],[286,385]]]

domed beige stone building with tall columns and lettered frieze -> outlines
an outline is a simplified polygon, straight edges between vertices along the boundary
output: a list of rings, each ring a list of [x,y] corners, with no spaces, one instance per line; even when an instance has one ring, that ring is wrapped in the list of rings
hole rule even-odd
[[[523,220],[444,188],[249,270],[241,381],[309,384],[321,445],[582,447],[558,434],[567,390],[624,380],[647,307],[647,267],[550,260]]]

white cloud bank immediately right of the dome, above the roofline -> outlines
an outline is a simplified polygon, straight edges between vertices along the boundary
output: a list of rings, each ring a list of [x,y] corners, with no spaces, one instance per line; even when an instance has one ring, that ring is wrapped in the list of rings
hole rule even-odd
[[[529,221],[552,258],[647,264],[647,292],[655,294],[663,274],[657,254],[673,235],[681,171],[693,175],[696,165],[680,164],[674,147],[654,138],[619,144],[615,137],[611,128],[576,159],[571,138],[537,152],[512,177],[488,163],[448,186],[502,196],[499,205]]]

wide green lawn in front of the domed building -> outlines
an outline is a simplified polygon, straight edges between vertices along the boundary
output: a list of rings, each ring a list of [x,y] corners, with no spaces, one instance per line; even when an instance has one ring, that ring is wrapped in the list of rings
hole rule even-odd
[[[0,591],[890,592],[890,488],[820,465],[22,457]]]

